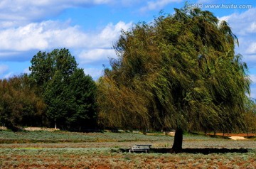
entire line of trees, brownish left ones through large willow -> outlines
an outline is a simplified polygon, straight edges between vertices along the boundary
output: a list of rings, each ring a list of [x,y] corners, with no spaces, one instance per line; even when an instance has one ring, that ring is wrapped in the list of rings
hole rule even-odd
[[[68,49],[38,52],[30,75],[1,80],[1,124],[146,131],[255,131],[255,102],[238,38],[209,11],[175,9],[137,23],[113,48],[118,58],[94,82]]]

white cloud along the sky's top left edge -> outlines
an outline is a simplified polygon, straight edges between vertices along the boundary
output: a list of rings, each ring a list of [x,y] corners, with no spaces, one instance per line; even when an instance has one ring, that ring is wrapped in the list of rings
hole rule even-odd
[[[38,21],[46,16],[55,16],[72,7],[89,7],[111,3],[111,0],[1,0],[0,20]]]

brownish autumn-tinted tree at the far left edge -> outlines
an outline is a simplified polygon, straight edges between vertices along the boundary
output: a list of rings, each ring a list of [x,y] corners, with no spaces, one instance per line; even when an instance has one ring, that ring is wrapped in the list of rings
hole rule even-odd
[[[41,126],[45,104],[36,95],[28,75],[0,80],[0,122],[13,131],[20,126]]]

